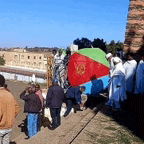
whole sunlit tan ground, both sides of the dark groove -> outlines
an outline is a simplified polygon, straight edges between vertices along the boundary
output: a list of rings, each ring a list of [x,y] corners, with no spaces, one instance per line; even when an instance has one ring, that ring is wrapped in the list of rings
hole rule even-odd
[[[66,118],[62,118],[62,125],[54,131],[47,127],[32,139],[26,140],[26,135],[18,127],[25,118],[23,114],[23,101],[19,94],[27,84],[7,82],[8,88],[12,91],[21,106],[21,112],[16,118],[11,141],[17,144],[141,144],[144,143],[136,137],[132,131],[117,123],[116,119],[103,112],[105,106],[103,103],[97,105],[97,108],[87,109],[82,112],[72,113]],[[117,119],[121,118],[116,116]],[[126,117],[126,114],[124,114]],[[129,117],[129,116],[127,116]],[[125,119],[128,123],[131,119]],[[133,122],[132,122],[133,123]]]

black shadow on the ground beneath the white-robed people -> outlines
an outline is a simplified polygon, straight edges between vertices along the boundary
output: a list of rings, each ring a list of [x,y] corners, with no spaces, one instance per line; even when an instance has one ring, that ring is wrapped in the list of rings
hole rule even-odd
[[[103,96],[89,96],[85,105],[91,109],[97,107],[96,114],[101,111],[144,140],[144,96],[131,96],[129,100],[122,103],[121,111],[109,109],[105,106],[106,101],[107,98]]]

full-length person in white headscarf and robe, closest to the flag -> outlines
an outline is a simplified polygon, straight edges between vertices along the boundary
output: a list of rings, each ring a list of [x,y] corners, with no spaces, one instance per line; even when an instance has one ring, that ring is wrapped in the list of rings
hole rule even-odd
[[[109,101],[106,105],[120,109],[121,101],[126,99],[125,70],[118,57],[113,58],[114,68],[111,73]]]

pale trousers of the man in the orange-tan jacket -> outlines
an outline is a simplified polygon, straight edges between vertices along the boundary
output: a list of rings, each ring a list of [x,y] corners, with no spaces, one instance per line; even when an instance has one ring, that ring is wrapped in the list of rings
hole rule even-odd
[[[12,129],[0,130],[0,143],[9,144]]]

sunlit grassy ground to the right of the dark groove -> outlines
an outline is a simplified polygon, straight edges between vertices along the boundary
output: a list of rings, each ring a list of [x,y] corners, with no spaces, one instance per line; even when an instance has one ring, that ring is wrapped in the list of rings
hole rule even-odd
[[[72,144],[142,144],[141,139],[99,112]]]

